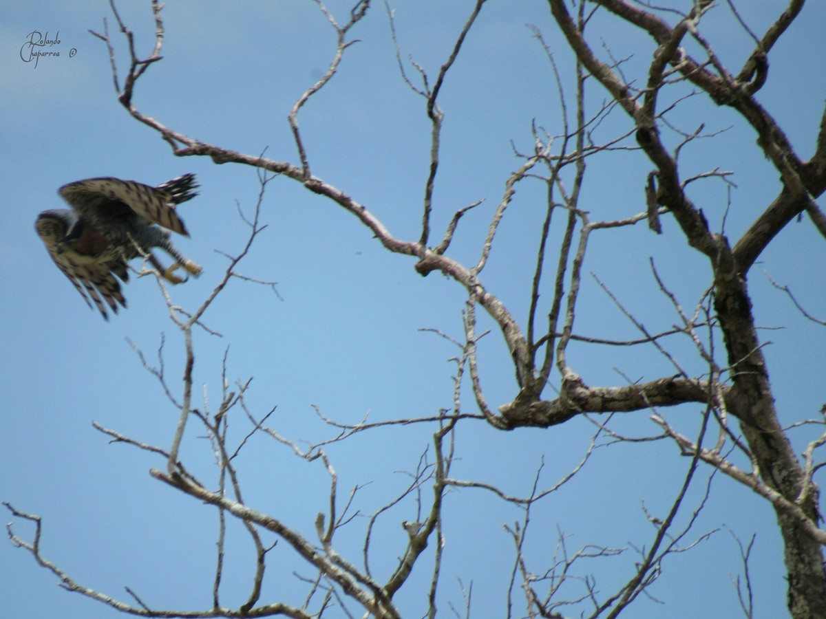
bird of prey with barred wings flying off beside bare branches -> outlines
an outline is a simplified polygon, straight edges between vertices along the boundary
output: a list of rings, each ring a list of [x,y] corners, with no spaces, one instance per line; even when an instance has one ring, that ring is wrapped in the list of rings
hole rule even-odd
[[[126,307],[117,278],[129,280],[126,264],[132,258],[145,258],[173,284],[186,281],[174,275],[179,267],[201,274],[201,267],[174,248],[169,233],[189,236],[175,207],[195,197],[197,187],[194,174],[158,187],[112,177],[70,182],[59,194],[72,208],[44,210],[35,229],[86,304],[92,307],[93,301],[108,320],[106,305],[114,313],[118,304]],[[153,248],[163,249],[175,262],[164,268]]]

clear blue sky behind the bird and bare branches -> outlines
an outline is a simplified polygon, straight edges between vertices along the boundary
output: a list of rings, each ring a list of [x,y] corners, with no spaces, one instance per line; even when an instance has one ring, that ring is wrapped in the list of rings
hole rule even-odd
[[[139,54],[154,43],[149,2],[121,3],[121,17],[135,30]],[[745,4],[745,3],[743,3]],[[775,2],[743,7],[754,31],[762,32]],[[339,21],[348,2],[328,3]],[[431,76],[444,63],[472,2],[395,2],[396,28],[403,57],[412,54]],[[244,153],[297,162],[287,114],[306,87],[325,72],[335,50],[335,33],[315,2],[168,2],[164,9],[164,59],[141,79],[135,104],[149,116],[185,134]],[[46,255],[33,230],[40,210],[61,208],[56,191],[66,182],[115,176],[157,184],[195,172],[200,195],[183,205],[191,239],[177,239],[203,275],[171,292],[174,301],[193,309],[220,280],[225,258],[235,253],[247,229],[236,206],[251,213],[258,193],[255,172],[216,166],[207,159],[176,158],[157,134],[140,125],[116,102],[107,50],[88,33],[115,31],[107,2],[73,5],[33,0],[0,8],[0,388],[5,395],[0,431],[0,499],[44,517],[42,552],[82,584],[129,601],[123,587],[152,607],[207,608],[211,603],[214,510],[152,480],[150,467],[164,465],[134,448],[111,445],[91,422],[140,441],[168,447],[178,414],[157,380],[140,365],[128,340],[155,362],[165,334],[164,363],[178,390],[183,345],[170,322],[164,299],[151,278],[132,278],[125,287],[129,309],[108,323],[78,298]],[[713,17],[713,18],[712,18]],[[771,54],[771,73],[759,100],[781,122],[801,157],[814,148],[826,76],[810,70],[824,58],[822,25],[826,8],[810,2],[804,14]],[[434,239],[453,212],[486,202],[462,220],[451,255],[475,262],[489,218],[501,199],[510,172],[519,166],[517,149],[533,148],[532,120],[552,134],[560,130],[558,93],[548,60],[526,24],[535,24],[554,51],[572,94],[571,59],[554,29],[544,2],[491,0],[468,36],[449,74],[440,105],[445,113],[441,167],[434,194]],[[724,60],[738,67],[751,51],[732,26],[724,7],[703,22]],[[652,50],[614,21],[597,19],[625,70],[644,79]],[[58,58],[37,67],[21,61],[21,46],[32,31],[59,36]],[[368,206],[400,239],[420,234],[420,205],[428,172],[430,125],[424,101],[401,80],[387,16],[377,3],[352,36],[339,74],[301,111],[299,122],[313,173]],[[70,55],[70,50],[76,52]],[[121,79],[125,47],[117,41]],[[801,78],[801,62],[805,79]],[[819,62],[819,61],[818,61]],[[604,93],[592,91],[592,105]],[[719,167],[735,172],[726,232],[736,239],[777,191],[777,174],[763,160],[754,135],[728,110],[710,107],[702,97],[688,99],[672,120],[689,132],[700,122],[706,130],[727,129],[713,140],[686,147],[684,177]],[[610,116],[597,132],[607,139],[627,130],[626,120]],[[586,183],[587,210],[593,220],[634,215],[644,210],[643,184],[651,168],[638,154],[595,158]],[[544,211],[543,187],[525,182],[503,221],[483,272],[489,290],[520,321],[527,313],[534,243]],[[712,225],[723,219],[727,191],[722,182],[698,182],[692,198]],[[452,281],[433,273],[422,278],[410,258],[382,250],[366,229],[339,207],[278,178],[263,203],[268,228],[240,266],[246,276],[278,281],[278,295],[240,281],[219,297],[205,316],[223,337],[196,333],[197,395],[202,385],[214,407],[221,394],[221,360],[227,353],[230,383],[253,377],[248,404],[263,415],[273,406],[271,425],[296,441],[331,436],[312,406],[327,417],[354,423],[365,413],[374,420],[430,416],[453,401],[456,349],[433,333],[435,328],[462,338],[465,295]],[[686,247],[668,218],[664,234],[643,226],[620,234],[595,234],[585,272],[594,272],[652,330],[669,328],[678,317],[648,268],[658,272],[687,309],[708,285],[705,261]],[[558,238],[558,237],[557,237]],[[216,252],[217,250],[217,252]],[[826,248],[807,220],[792,223],[752,270],[750,289],[758,324],[772,328],[766,354],[784,423],[813,418],[823,404],[824,330],[796,314],[789,300],[768,283],[763,271],[795,292],[800,302],[824,317]],[[550,298],[550,284],[544,299]],[[480,312],[481,313],[481,312]],[[491,324],[480,318],[480,331]],[[775,330],[774,328],[784,327]],[[577,313],[577,330],[595,337],[633,338],[636,331],[591,276],[586,276]],[[491,333],[480,350],[482,381],[494,406],[513,399],[513,371],[501,336]],[[672,350],[693,371],[701,366],[686,343]],[[624,378],[648,380],[671,370],[653,350],[633,354],[595,347],[572,347],[571,363],[591,385],[621,385]],[[549,392],[548,394],[549,395]],[[476,412],[469,389],[463,409]],[[198,404],[201,405],[201,404]],[[695,432],[696,407],[664,411],[686,432]],[[616,420],[616,428],[636,436],[657,428],[640,412]],[[539,487],[556,483],[582,457],[593,427],[574,420],[548,430],[497,432],[468,424],[457,432],[461,456],[453,469],[460,479],[498,484],[509,494],[529,494],[541,462]],[[183,457],[207,479],[214,475],[207,441],[188,428]],[[420,454],[430,446],[431,427],[405,427],[368,433],[331,446],[341,494],[366,484],[356,506],[373,513],[401,492]],[[248,431],[242,416],[232,432]],[[797,451],[816,436],[803,429],[792,435]],[[432,453],[432,446],[430,446]],[[534,511],[528,559],[542,571],[551,562],[558,531],[568,549],[586,544],[643,546],[653,537],[641,505],[655,513],[667,509],[688,462],[666,442],[615,445],[595,452],[582,473]],[[320,462],[299,461],[286,448],[263,437],[250,442],[239,464],[245,499],[282,517],[311,539],[316,513],[325,508],[328,480]],[[707,477],[710,470],[701,470]],[[702,484],[691,494],[687,512],[700,500]],[[714,529],[710,541],[667,560],[651,593],[667,606],[641,599],[630,617],[697,617],[713,612],[735,617],[738,602],[731,584],[740,569],[731,527],[743,541],[753,533],[752,578],[757,617],[785,613],[782,549],[774,515],[733,481],[718,475],[695,536]],[[686,513],[687,513],[686,512]],[[415,515],[415,514],[414,514]],[[8,519],[7,514],[7,519]],[[462,607],[458,579],[473,583],[472,616],[504,616],[506,582],[512,566],[512,541],[503,523],[522,513],[480,490],[455,490],[445,507],[446,553],[440,584],[440,609]],[[404,549],[401,520],[411,506],[380,521],[371,556],[377,574]],[[360,559],[366,518],[339,532],[339,552]],[[18,535],[31,527],[17,521]],[[690,536],[692,539],[695,536]],[[224,602],[239,604],[249,588],[249,542],[238,531],[229,554]],[[629,578],[633,548],[624,555],[592,561],[606,593]],[[265,597],[301,600],[303,589],[287,550],[273,559]],[[429,564],[428,564],[429,565]],[[423,563],[409,588],[400,593],[406,617],[425,610],[429,585]],[[113,617],[115,612],[56,586],[55,578],[10,544],[0,544],[0,607],[8,617]],[[242,593],[235,593],[240,591]],[[517,591],[518,593],[518,591]],[[574,595],[574,593],[572,593]],[[234,597],[240,596],[240,597]],[[691,600],[691,603],[686,603]],[[488,609],[493,609],[488,612]]]

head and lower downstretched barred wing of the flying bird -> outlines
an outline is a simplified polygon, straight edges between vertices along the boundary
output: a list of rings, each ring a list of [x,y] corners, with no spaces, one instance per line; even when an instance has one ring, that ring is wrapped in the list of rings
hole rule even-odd
[[[123,279],[126,281],[126,265],[96,262],[93,258],[70,250],[59,252],[58,241],[66,234],[66,218],[69,215],[70,211],[45,211],[37,218],[35,229],[52,260],[72,282],[86,301],[86,305],[92,307],[94,302],[103,318],[108,320],[106,305],[114,313],[117,313],[118,304],[126,307],[126,299],[121,294],[121,284],[113,275],[113,272],[123,273]]]

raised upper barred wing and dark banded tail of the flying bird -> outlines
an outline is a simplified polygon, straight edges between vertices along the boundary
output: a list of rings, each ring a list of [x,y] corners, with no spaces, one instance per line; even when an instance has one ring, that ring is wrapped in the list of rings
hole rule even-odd
[[[188,236],[183,221],[175,212],[175,205],[192,198],[194,187],[197,187],[195,177],[186,174],[159,187],[104,177],[70,182],[59,191],[74,210],[92,220],[106,220],[116,215],[120,202],[145,220]]]

